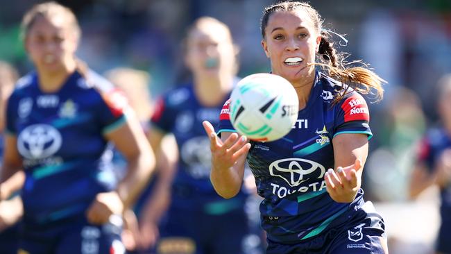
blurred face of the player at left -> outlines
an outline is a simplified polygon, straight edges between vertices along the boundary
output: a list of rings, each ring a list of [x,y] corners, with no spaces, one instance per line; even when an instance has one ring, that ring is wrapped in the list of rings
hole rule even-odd
[[[63,69],[74,59],[77,38],[64,15],[37,17],[26,34],[25,47],[38,71]]]

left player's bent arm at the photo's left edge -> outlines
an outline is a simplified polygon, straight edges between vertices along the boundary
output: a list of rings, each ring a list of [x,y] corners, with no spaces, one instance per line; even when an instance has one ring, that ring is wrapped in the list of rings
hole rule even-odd
[[[3,151],[3,164],[1,165],[0,198],[5,200],[17,190],[21,189],[25,181],[22,171],[22,158],[17,151],[17,137],[5,135],[5,148]]]

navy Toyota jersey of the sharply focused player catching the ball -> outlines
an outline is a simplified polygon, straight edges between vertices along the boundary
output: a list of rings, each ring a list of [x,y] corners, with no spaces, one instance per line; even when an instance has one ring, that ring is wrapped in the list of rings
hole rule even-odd
[[[309,101],[291,132],[273,142],[251,142],[247,160],[264,198],[262,226],[273,242],[296,243],[320,235],[346,223],[364,203],[362,190],[352,203],[337,203],[325,187],[324,173],[334,168],[333,137],[372,136],[368,107],[360,94],[350,92],[332,103],[339,85],[317,72]],[[228,103],[220,115],[219,133],[235,132]]]

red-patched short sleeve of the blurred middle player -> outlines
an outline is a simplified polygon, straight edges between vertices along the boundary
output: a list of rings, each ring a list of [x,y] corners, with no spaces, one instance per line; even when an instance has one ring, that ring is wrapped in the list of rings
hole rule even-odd
[[[175,124],[176,115],[167,103],[167,96],[160,96],[155,103],[155,110],[151,117],[151,125],[170,133]]]

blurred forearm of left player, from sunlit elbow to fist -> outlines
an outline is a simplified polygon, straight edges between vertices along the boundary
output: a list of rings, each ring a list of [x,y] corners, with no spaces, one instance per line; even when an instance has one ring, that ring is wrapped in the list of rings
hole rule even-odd
[[[154,168],[155,160],[151,156],[139,155],[128,160],[126,176],[117,186],[117,193],[124,202],[124,208],[130,208],[135,203]]]

